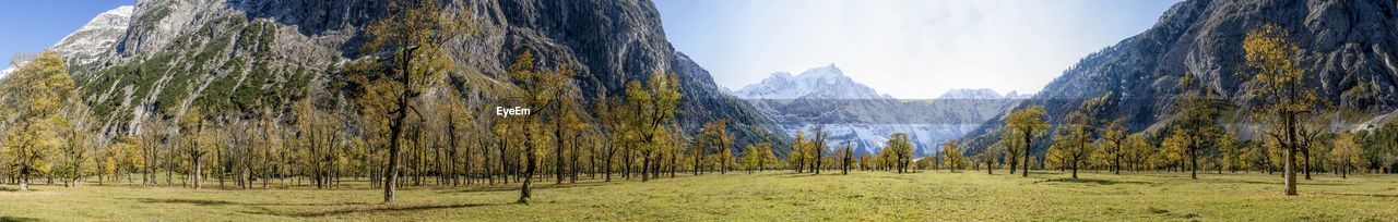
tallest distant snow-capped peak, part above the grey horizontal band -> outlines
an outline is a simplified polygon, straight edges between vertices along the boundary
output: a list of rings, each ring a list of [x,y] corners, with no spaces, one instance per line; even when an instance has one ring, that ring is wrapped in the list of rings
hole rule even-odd
[[[835,64],[815,67],[791,75],[777,71],[758,84],[734,92],[744,99],[892,99],[874,88],[854,82]]]

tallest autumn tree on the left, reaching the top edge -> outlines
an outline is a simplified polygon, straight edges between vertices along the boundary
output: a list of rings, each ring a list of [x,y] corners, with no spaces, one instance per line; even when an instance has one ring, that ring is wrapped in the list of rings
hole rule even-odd
[[[390,1],[387,8],[386,17],[365,28],[368,42],[361,49],[366,57],[361,60],[362,70],[351,71],[351,80],[363,85],[368,94],[377,94],[382,98],[361,102],[387,103],[370,106],[382,108],[373,114],[389,117],[386,144],[389,159],[383,201],[391,202],[404,124],[410,112],[417,112],[412,103],[422,95],[424,88],[457,68],[449,53],[449,42],[470,29],[467,22],[457,18],[470,13],[445,13],[449,10],[443,10],[445,6],[435,0]]]

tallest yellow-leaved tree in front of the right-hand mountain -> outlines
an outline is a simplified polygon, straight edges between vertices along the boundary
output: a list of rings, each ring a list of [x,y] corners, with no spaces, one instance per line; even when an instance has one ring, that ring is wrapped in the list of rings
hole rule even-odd
[[[1253,74],[1247,95],[1258,102],[1251,117],[1262,124],[1258,130],[1285,149],[1285,194],[1296,195],[1296,152],[1303,148],[1303,135],[1314,131],[1307,126],[1316,114],[1320,96],[1296,56],[1299,47],[1286,29],[1262,25],[1248,31],[1243,39],[1246,64]]]

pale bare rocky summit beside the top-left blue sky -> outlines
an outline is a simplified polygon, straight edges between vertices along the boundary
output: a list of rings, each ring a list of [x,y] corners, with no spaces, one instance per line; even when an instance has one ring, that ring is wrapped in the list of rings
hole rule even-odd
[[[53,45],[53,52],[67,59],[73,66],[87,66],[96,63],[98,59],[110,57],[112,53],[116,53],[113,47],[116,42],[122,35],[126,35],[134,8],[133,6],[122,6],[98,14],[87,25]]]

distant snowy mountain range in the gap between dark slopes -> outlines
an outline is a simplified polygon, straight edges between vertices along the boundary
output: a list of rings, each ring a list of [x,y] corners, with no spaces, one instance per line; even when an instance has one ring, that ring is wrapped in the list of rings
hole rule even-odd
[[[952,89],[939,99],[893,99],[856,82],[835,64],[801,74],[774,73],[731,92],[770,116],[787,134],[823,126],[828,145],[849,142],[858,152],[878,152],[893,133],[907,133],[916,155],[941,151],[1000,114],[1011,103],[991,89]]]

